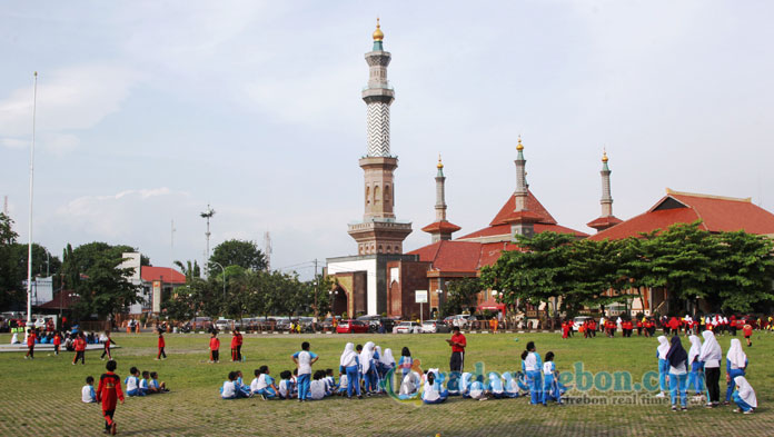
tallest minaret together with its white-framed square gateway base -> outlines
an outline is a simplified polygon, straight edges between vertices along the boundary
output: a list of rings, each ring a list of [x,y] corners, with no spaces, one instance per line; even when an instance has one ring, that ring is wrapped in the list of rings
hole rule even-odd
[[[377,20],[373,50],[366,53],[368,85],[363,100],[368,113],[364,170],[363,220],[350,224],[348,234],[357,242],[357,256],[328,258],[326,274],[336,280],[330,290],[333,311],[348,316],[387,312],[387,262],[416,260],[403,255],[403,241],[411,234],[411,224],[395,218],[395,169],[398,158],[389,143],[389,110],[395,91],[387,80],[391,54],[384,50],[384,33]]]

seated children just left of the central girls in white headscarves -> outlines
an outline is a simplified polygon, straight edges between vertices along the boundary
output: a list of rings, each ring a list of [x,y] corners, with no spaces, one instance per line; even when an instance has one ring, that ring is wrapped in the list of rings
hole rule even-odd
[[[298,398],[298,370],[284,370],[279,374],[279,383],[269,375],[268,366],[260,366],[254,373],[255,378],[249,386],[242,383],[240,370],[228,374],[228,380],[220,388],[224,399],[260,397],[261,399],[296,399]],[[344,389],[346,393],[346,379]],[[317,370],[309,384],[309,397],[320,400],[328,396],[340,395],[339,386],[334,378],[334,370]]]

